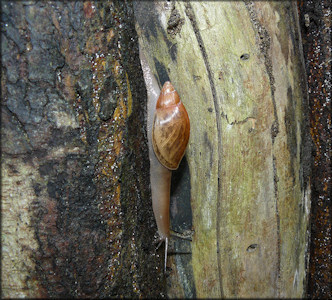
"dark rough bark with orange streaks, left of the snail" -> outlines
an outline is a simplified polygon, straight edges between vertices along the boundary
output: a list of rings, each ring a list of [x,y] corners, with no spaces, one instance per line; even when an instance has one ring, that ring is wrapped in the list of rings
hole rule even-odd
[[[131,3],[1,1],[2,297],[156,297]]]

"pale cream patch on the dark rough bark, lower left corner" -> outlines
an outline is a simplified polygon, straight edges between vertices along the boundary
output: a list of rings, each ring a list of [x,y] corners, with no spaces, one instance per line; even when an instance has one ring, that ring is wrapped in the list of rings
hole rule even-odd
[[[34,297],[40,288],[29,278],[36,266],[31,254],[38,243],[29,207],[35,198],[31,183],[38,180],[38,172],[19,158],[7,158],[1,164],[1,178],[2,297]]]

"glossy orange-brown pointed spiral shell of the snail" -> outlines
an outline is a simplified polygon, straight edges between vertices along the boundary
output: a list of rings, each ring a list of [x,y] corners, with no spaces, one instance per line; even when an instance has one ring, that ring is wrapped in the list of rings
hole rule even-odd
[[[190,135],[188,113],[173,85],[165,82],[156,104],[152,145],[162,165],[176,170],[187,148]]]

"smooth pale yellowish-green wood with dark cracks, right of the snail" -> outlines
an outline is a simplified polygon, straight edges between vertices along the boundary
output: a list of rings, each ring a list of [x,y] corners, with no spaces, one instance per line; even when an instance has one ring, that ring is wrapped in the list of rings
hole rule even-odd
[[[195,233],[186,254],[175,245],[168,295],[304,296],[310,148],[296,3],[134,8],[160,86],[172,81],[191,121],[182,176]]]

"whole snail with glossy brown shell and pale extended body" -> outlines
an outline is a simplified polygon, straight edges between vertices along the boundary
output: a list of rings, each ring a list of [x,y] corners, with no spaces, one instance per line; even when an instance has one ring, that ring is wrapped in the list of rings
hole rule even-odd
[[[141,49],[140,60],[148,94],[147,134],[152,208],[160,241],[165,241],[166,271],[171,176],[172,170],[178,168],[188,145],[190,121],[179,94],[169,81],[164,83],[160,91]]]

